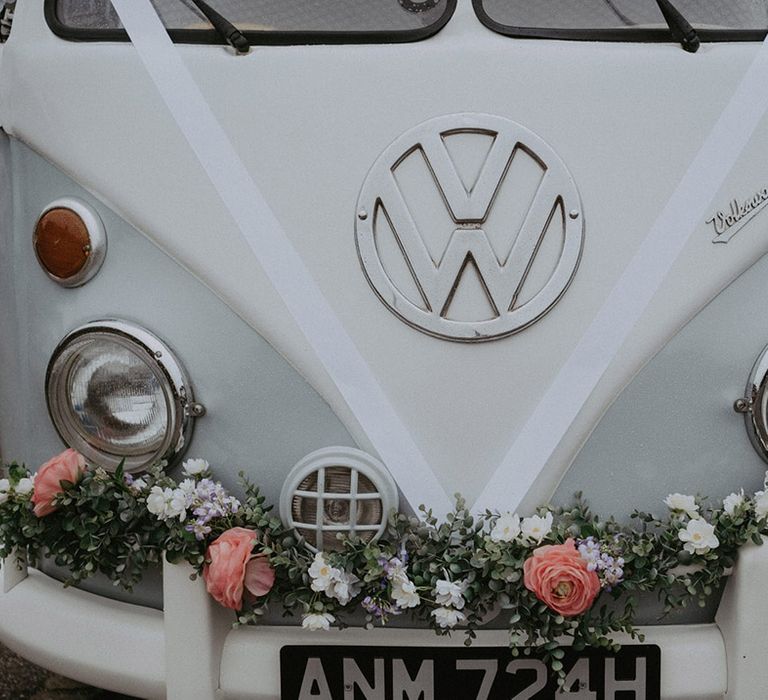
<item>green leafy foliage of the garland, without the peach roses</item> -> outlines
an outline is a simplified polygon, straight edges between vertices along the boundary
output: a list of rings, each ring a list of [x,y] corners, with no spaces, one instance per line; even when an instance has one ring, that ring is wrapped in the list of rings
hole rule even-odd
[[[500,535],[496,531],[501,530],[500,519],[512,519],[519,526],[517,516],[490,511],[473,515],[457,495],[456,506],[444,521],[423,507],[415,516],[392,512],[380,539],[339,536],[333,551],[316,556],[297,533],[284,529],[259,489],[242,474],[244,501],[213,517],[205,535],[196,536],[190,501],[173,517],[157,515],[156,506],[150,512],[153,508],[147,502],[153,493],[169,496],[185,488],[194,490],[207,479],[207,471],[177,484],[159,467],[141,482],[125,476],[122,468],[113,474],[89,469],[76,484],[61,482],[56,510],[40,518],[34,514],[31,484],[24,481],[31,477],[28,470],[11,464],[4,471],[0,557],[9,557],[14,550],[26,552],[33,564],[50,557],[70,572],[67,584],[101,573],[130,590],[163,553],[169,561],[189,562],[202,574],[210,543],[230,528],[244,527],[258,533],[257,553],[269,558],[276,578],[267,595],[244,605],[240,623],[258,622],[266,606],[273,604],[305,621],[307,616],[329,613],[345,626],[349,624],[345,614],[362,607],[368,627],[407,614],[438,634],[449,634],[458,621],[471,643],[477,628],[501,611],[509,624],[513,653],[538,648],[561,678],[563,643],[576,649],[614,648],[616,633],[639,637],[634,620],[638,595],[644,592],[655,592],[665,613],[705,604],[735,565],[740,548],[761,544],[768,535],[768,497],[763,492],[754,497],[734,494],[728,508],[708,507],[697,498],[692,511],[673,509],[665,519],[635,512],[630,526],[601,518],[577,494],[567,508],[539,509],[540,522],[546,520],[547,526],[538,537],[526,531],[525,523],[522,532],[516,526],[514,532]],[[708,536],[716,540],[686,548],[687,528],[693,525],[711,526]],[[575,541],[574,547],[585,542],[602,547],[601,552],[615,557],[620,575],[614,579],[603,575],[594,604],[582,614],[566,617],[529,590],[524,567],[540,546],[569,539]],[[316,571],[312,574],[318,561],[343,580],[343,594],[328,587],[327,577],[321,581]],[[453,584],[460,594],[452,602],[442,594],[441,600],[440,586]],[[406,585],[411,587],[412,606],[398,597]],[[451,624],[445,622],[446,611],[456,616]]]

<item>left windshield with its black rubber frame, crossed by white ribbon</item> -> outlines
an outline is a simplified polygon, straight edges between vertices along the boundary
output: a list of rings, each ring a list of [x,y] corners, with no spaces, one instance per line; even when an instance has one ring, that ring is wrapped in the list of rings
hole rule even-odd
[[[125,38],[109,0],[46,0],[49,24],[66,38]],[[253,43],[409,41],[438,31],[456,0],[207,0]],[[153,0],[177,41],[218,43],[188,0]],[[118,37],[118,33],[122,36]],[[207,35],[207,36],[206,36]],[[310,36],[314,35],[314,36]]]

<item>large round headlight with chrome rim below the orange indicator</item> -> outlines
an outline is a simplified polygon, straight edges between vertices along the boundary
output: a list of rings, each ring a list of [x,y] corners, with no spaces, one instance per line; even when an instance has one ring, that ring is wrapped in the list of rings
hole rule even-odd
[[[124,461],[127,472],[180,457],[191,418],[203,412],[171,350],[125,321],[96,321],[64,338],[46,398],[67,445],[106,469]]]

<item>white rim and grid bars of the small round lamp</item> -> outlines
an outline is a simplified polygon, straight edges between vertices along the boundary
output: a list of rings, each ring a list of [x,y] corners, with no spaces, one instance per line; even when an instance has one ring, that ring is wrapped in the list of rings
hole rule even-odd
[[[297,492],[299,494],[303,493],[299,490],[299,486],[305,479],[315,473],[319,475],[318,504],[322,503],[324,496],[333,496],[333,499],[328,500],[349,500],[350,514],[353,511],[353,507],[356,512],[357,504],[362,500],[358,497],[362,492],[356,492],[356,488],[352,485],[350,486],[349,493],[326,492],[324,484],[320,482],[323,479],[324,471],[327,469],[348,469],[350,470],[351,479],[354,480],[353,483],[357,483],[356,479],[359,476],[363,476],[373,484],[375,491],[365,492],[364,499],[381,501],[380,522],[376,523],[375,526],[357,526],[354,522],[355,518],[352,518],[351,525],[324,525],[321,523],[321,508],[317,509],[317,520],[315,523],[296,521],[293,517],[294,497],[297,495]],[[358,476],[352,477],[353,473],[356,473]],[[294,529],[297,534],[300,534],[301,530],[312,531],[315,535],[315,540],[311,542],[305,538],[305,545],[311,551],[318,552],[324,549],[322,546],[324,533],[349,532],[350,534],[358,535],[360,533],[372,533],[370,540],[377,540],[386,531],[389,513],[393,508],[398,508],[398,502],[397,485],[387,468],[376,457],[352,447],[324,447],[303,457],[288,473],[288,477],[280,492],[280,517],[283,523],[287,527]]]

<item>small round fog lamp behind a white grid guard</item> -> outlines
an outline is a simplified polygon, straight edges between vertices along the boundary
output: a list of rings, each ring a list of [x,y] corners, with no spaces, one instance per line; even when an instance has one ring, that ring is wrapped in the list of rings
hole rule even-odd
[[[308,454],[280,494],[280,516],[313,550],[339,549],[339,533],[365,542],[379,537],[397,505],[397,487],[384,465],[350,447]]]

